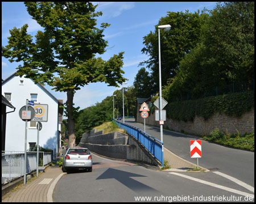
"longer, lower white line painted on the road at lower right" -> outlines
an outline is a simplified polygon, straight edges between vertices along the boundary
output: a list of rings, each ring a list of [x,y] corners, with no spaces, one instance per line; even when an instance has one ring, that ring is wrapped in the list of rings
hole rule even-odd
[[[201,184],[213,186],[215,188],[226,190],[228,192],[237,193],[237,194],[240,194],[242,196],[250,196],[250,197],[254,198],[254,194],[249,194],[249,193],[241,192],[240,190],[228,188],[228,187],[225,187],[225,186],[222,186],[222,185],[218,185],[218,184],[213,184],[212,182],[204,181],[204,180],[201,180],[201,179],[196,179],[196,178],[193,178],[193,177],[187,176],[187,175],[182,175],[181,173],[176,173],[176,172],[170,172],[170,173],[173,174],[173,175],[184,177],[186,179],[190,179],[190,180],[193,180],[193,181],[200,182]]]

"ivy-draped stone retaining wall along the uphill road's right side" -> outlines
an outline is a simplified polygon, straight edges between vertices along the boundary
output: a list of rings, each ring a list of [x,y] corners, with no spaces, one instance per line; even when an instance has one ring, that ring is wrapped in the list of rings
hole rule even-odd
[[[155,121],[155,108],[146,118],[146,124],[159,125]],[[205,97],[166,105],[167,121],[164,127],[170,130],[209,135],[215,128],[226,133],[250,133],[254,127],[254,92],[240,92],[221,96]],[[138,115],[137,121],[143,122]]]

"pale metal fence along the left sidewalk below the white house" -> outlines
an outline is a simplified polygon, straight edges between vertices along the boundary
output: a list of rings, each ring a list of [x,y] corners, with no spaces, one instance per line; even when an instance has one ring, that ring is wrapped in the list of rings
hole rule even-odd
[[[41,165],[49,164],[52,162],[52,153],[39,152],[39,166],[40,158],[43,161]],[[27,152],[26,165],[27,173],[36,170],[36,152]],[[24,152],[2,151],[2,184],[22,176],[24,176]]]

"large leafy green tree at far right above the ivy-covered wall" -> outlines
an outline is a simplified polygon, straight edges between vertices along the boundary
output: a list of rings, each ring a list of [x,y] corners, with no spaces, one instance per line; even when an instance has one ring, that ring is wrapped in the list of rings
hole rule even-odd
[[[211,87],[254,79],[254,2],[217,3],[200,43],[181,61],[165,95],[200,95]]]

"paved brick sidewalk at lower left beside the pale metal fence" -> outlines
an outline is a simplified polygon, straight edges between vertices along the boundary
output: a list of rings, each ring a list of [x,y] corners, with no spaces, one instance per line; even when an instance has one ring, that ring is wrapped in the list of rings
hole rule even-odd
[[[57,181],[65,173],[59,165],[45,169],[38,177],[22,184],[2,197],[2,202],[53,202],[52,193]]]

